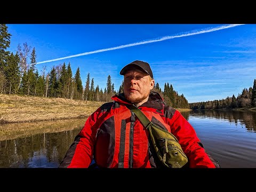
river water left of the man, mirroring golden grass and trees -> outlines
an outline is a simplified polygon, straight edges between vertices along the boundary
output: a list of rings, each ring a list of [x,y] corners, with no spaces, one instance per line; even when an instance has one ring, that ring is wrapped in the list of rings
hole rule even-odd
[[[58,167],[84,123],[72,119],[0,126],[0,167]]]

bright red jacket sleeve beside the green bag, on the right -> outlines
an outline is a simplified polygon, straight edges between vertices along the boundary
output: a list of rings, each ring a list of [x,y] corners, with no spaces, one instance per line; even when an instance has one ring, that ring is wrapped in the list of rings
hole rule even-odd
[[[189,167],[215,168],[205,149],[199,145],[201,141],[193,126],[178,110],[175,110],[171,118],[166,118],[166,121],[171,127],[172,134],[179,140],[184,153],[187,155]]]

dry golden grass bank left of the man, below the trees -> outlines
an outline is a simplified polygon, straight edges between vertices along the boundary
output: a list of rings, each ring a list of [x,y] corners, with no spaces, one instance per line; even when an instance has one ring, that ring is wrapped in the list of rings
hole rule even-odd
[[[103,102],[0,94],[0,123],[88,117]]]

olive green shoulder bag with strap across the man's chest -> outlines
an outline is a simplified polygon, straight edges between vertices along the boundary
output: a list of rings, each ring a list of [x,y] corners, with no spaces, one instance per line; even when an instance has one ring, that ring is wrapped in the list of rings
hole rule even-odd
[[[178,139],[169,131],[149,121],[147,116],[134,105],[126,105],[149,131],[156,155],[160,162],[169,168],[180,168],[188,162]]]

